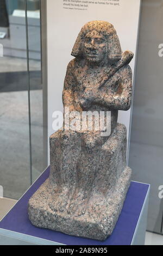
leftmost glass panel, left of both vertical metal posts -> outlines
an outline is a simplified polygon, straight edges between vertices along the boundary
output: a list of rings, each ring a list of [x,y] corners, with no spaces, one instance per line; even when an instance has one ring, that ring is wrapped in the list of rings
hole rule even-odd
[[[30,185],[25,2],[0,0],[0,7],[0,184],[4,197],[17,199]]]

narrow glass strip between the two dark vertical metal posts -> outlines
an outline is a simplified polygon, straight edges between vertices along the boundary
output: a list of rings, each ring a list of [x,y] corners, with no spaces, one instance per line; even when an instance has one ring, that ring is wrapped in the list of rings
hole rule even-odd
[[[42,68],[45,69],[45,66],[42,65],[46,65],[46,62],[42,59],[41,51],[42,48],[43,51],[46,51],[46,47],[42,47],[41,44],[41,38],[44,36],[41,29],[41,17],[45,13],[41,15],[41,3],[45,5],[45,0],[27,0],[32,181],[47,167],[47,162],[45,162],[47,153],[44,150],[43,141],[43,81],[45,73],[42,70]]]

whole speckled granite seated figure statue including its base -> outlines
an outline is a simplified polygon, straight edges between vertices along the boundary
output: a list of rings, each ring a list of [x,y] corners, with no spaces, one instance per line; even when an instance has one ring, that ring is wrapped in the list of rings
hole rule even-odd
[[[37,227],[104,240],[130,185],[127,132],[117,118],[118,110],[131,104],[133,53],[122,53],[109,22],[92,21],[80,31],[71,54],[62,101],[81,119],[78,129],[65,128],[64,122],[50,137],[51,173],[29,200],[29,219]],[[83,112],[110,112],[110,133],[102,136],[104,127],[95,129],[95,123],[92,130],[81,129]]]

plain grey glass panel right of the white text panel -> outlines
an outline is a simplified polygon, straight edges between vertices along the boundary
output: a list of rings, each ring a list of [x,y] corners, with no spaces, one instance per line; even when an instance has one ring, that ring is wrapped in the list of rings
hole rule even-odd
[[[163,0],[143,0],[129,155],[133,179],[151,184],[148,230],[156,233],[163,212],[162,22]]]

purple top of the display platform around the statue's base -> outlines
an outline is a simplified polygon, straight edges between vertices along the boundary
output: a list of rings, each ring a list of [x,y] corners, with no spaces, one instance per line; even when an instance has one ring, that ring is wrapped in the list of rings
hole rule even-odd
[[[23,195],[9,213],[0,222],[0,228],[15,231],[17,233],[39,237],[49,241],[55,241],[65,245],[131,245],[137,222],[145,202],[149,185],[139,182],[131,182],[126,200],[116,227],[110,237],[105,241],[85,239],[76,236],[62,234],[57,231],[34,227],[28,220],[28,200],[40,185],[48,178],[49,167],[39,179]]]

